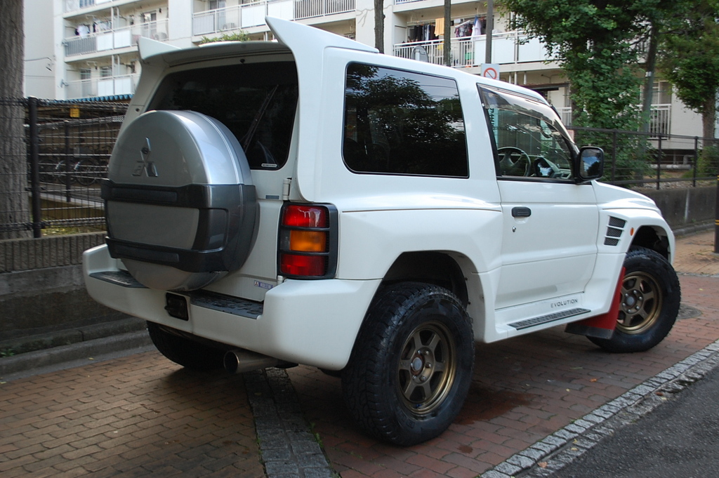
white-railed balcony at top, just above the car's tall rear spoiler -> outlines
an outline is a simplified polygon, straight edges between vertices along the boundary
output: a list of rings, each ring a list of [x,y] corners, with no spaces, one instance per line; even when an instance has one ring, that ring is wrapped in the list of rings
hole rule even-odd
[[[211,35],[265,24],[265,17],[286,20],[354,12],[354,0],[262,0],[193,14],[192,34]]]

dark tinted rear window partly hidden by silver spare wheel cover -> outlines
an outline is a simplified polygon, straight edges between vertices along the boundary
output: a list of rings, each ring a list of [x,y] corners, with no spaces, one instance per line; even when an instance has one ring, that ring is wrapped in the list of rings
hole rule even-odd
[[[274,170],[287,162],[297,97],[294,63],[238,63],[171,73],[150,109],[219,119],[242,144],[249,167]]]

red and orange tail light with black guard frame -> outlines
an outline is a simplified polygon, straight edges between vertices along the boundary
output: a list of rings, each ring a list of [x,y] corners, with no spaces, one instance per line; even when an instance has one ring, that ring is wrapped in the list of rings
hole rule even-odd
[[[278,274],[295,279],[334,277],[337,211],[334,206],[285,204],[280,213]]]

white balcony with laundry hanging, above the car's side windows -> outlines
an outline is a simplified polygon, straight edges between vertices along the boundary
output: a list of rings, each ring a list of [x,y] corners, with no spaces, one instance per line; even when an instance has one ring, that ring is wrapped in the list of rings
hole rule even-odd
[[[452,38],[450,55],[455,68],[480,66],[485,63],[486,35]],[[431,42],[400,43],[395,45],[395,56],[428,61],[444,65],[443,40]],[[492,35],[492,62],[500,65],[513,63],[544,62],[551,60],[544,45],[523,32],[506,32]]]

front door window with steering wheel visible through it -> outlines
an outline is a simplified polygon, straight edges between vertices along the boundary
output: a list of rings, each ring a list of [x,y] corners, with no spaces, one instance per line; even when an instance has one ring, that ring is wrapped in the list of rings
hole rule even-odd
[[[572,149],[549,106],[505,91],[480,87],[498,152],[498,174],[508,177],[572,177]]]

